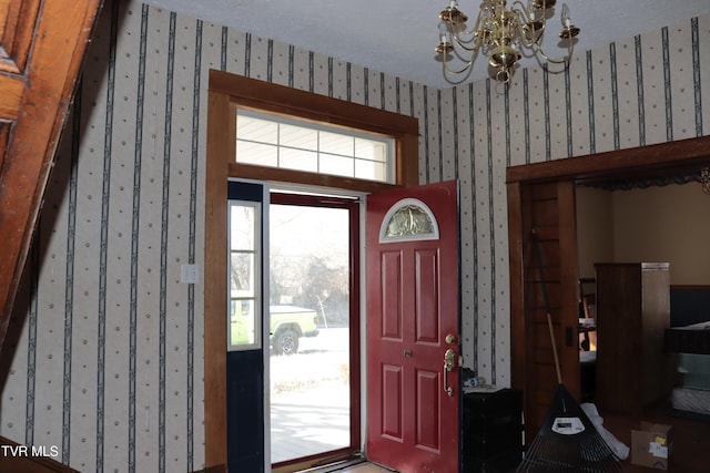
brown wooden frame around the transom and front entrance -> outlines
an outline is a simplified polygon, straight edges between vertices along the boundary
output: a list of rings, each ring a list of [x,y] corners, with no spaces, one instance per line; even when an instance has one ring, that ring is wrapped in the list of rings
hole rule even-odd
[[[295,115],[394,136],[395,183],[266,168],[235,163],[236,107]],[[205,465],[226,471],[226,182],[230,177],[372,193],[418,184],[416,117],[357,103],[210,71],[204,244],[204,439]]]

